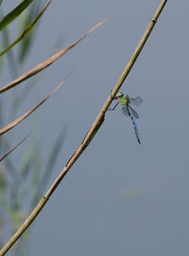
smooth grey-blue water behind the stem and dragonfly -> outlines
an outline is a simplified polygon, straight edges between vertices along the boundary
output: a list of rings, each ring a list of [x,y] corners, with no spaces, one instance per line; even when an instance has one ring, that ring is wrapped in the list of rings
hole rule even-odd
[[[42,100],[76,66],[35,117],[16,128],[25,133],[38,120],[46,162],[60,129],[67,127],[49,185],[91,127],[160,3],[53,1],[44,14],[23,73],[50,56],[60,38],[62,47],[68,46],[123,10],[44,70],[20,110],[32,107],[33,98]],[[188,1],[167,2],[121,88],[144,100],[135,108],[142,145],[120,107],[108,112],[32,224],[29,255],[188,255],[188,8]]]

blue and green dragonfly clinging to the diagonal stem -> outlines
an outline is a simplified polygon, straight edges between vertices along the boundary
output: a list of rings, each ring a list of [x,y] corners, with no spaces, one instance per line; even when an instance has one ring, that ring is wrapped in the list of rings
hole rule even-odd
[[[117,92],[117,94],[115,95],[115,97],[112,100],[118,100],[118,102],[114,105],[113,108],[109,108],[109,110],[114,110],[115,107],[118,105],[118,103],[119,102],[121,103],[122,112],[123,112],[124,115],[126,115],[127,117],[129,117],[131,119],[137,141],[139,142],[139,144],[141,144],[141,140],[140,140],[140,137],[139,137],[139,131],[138,131],[138,128],[137,128],[137,125],[136,125],[136,122],[135,122],[135,119],[139,119],[139,115],[130,106],[130,104],[135,105],[135,106],[139,106],[143,102],[143,99],[141,97],[129,98],[128,94],[127,94],[127,96],[124,96],[124,94],[119,91],[119,92]]]

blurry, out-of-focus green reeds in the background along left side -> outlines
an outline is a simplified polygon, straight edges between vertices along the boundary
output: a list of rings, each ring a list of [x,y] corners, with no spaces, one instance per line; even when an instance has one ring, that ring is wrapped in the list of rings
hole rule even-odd
[[[4,3],[6,4],[6,2]],[[31,3],[32,5],[29,6]],[[1,4],[2,0],[0,0],[0,5]],[[19,34],[25,31],[26,27],[30,26],[32,22],[35,21],[36,17],[42,14],[42,11],[40,12],[40,1],[33,0],[23,1],[5,16],[3,15],[2,7],[3,5],[1,5],[0,9],[0,15],[2,17],[0,21],[0,29],[2,30],[0,44],[1,48],[5,49],[10,46],[9,31],[11,31],[11,23],[17,18],[16,22]],[[0,57],[0,78],[3,76],[2,71],[6,59],[11,70],[12,78],[17,77],[22,65],[25,64],[26,61],[28,62],[29,50],[31,46],[33,46],[37,33],[36,24],[35,22],[32,27],[29,27],[25,36],[17,42],[19,44],[19,54],[14,54],[14,47],[12,46],[12,48],[9,48],[8,51],[5,52],[3,58]],[[34,27],[35,29],[31,29]],[[36,79],[33,80],[33,83],[35,82]],[[6,119],[12,121],[16,117],[22,101],[25,101],[30,90],[31,86],[26,86],[23,90],[14,90],[9,108],[7,107],[7,103],[3,101],[3,95],[1,95],[1,126],[5,124]],[[60,135],[55,138],[55,143],[45,165],[43,165],[42,159],[42,141],[39,134],[36,133],[32,133],[29,137],[29,143],[27,140],[20,146],[22,147],[20,156],[17,155],[15,159],[14,155],[9,155],[0,162],[0,247],[6,242],[4,236],[5,230],[12,235],[15,230],[21,226],[30,210],[33,209],[42,196],[59,156],[65,135],[66,131],[61,129]],[[14,141],[18,141],[18,139],[14,132],[11,132],[11,136],[0,137],[0,155],[2,156],[9,152],[9,149],[14,145]],[[12,247],[11,255],[26,256],[28,242],[29,232],[26,231],[24,236]]]

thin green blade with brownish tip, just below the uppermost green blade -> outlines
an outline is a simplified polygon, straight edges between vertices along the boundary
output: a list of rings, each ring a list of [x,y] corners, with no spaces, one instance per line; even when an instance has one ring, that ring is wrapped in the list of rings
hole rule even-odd
[[[33,27],[35,27],[35,25],[37,24],[37,22],[42,18],[44,11],[47,9],[47,7],[49,6],[49,4],[51,3],[52,0],[49,0],[48,3],[46,4],[46,6],[44,7],[44,9],[41,11],[41,13],[26,27],[26,29],[23,31],[23,33],[6,49],[4,49],[1,53],[0,53],[0,57],[2,55],[4,55],[7,51],[9,51],[10,48],[12,48],[13,46],[15,46],[16,44],[18,44],[22,39],[24,39],[26,37],[26,35],[31,31],[31,29]]]

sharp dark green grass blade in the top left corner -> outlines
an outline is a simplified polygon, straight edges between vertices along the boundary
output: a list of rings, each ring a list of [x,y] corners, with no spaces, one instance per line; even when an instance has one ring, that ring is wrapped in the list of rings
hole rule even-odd
[[[22,12],[25,10],[30,4],[33,2],[33,0],[24,0],[20,5],[18,5],[15,9],[12,9],[8,15],[6,15],[1,21],[0,21],[0,30],[7,27],[10,22],[15,20]]]

